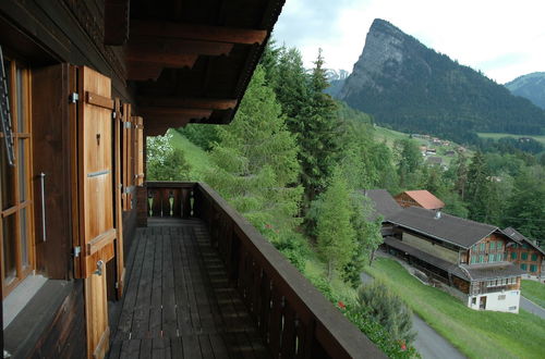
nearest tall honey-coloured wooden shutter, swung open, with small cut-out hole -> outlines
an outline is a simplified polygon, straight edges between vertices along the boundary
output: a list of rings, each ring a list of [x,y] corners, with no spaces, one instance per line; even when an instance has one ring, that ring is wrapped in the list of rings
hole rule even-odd
[[[106,263],[113,258],[112,110],[110,79],[78,67],[77,196],[81,273],[85,281],[87,357],[109,346]]]

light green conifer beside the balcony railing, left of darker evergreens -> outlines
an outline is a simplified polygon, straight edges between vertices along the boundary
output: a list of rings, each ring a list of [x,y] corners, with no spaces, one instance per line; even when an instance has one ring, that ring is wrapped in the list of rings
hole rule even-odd
[[[299,223],[298,146],[261,66],[232,124],[220,127],[218,136],[211,151],[217,169],[206,181],[257,228],[282,231]]]

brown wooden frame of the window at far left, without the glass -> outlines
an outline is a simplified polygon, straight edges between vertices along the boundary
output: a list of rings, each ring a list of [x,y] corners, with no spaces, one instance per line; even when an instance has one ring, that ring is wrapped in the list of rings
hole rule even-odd
[[[2,282],[2,297],[5,298],[25,277],[33,273],[35,270],[35,244],[34,244],[34,194],[32,186],[33,169],[32,169],[32,86],[31,86],[31,69],[23,62],[15,58],[4,57],[5,63],[9,61],[9,101],[10,101],[10,112],[11,122],[13,129],[13,150],[15,154],[15,166],[10,169],[13,171],[10,183],[8,187],[13,190],[13,206],[3,207],[3,198],[0,193],[0,258],[2,258],[2,265],[0,265],[0,280]],[[5,64],[4,63],[4,64]],[[17,71],[21,72],[21,88],[17,87]],[[20,126],[20,107],[19,107],[19,95],[22,95],[21,109],[24,113],[23,128]],[[0,133],[0,138],[3,134]],[[24,144],[24,158],[21,159],[20,154],[20,141],[23,140]],[[0,145],[0,156],[4,157],[4,145]],[[24,165],[24,176],[21,178],[21,164]],[[23,186],[21,184],[23,183]],[[25,199],[21,200],[22,188],[24,188]],[[22,226],[23,215],[25,218],[26,225]],[[4,220],[14,220],[14,262],[15,262],[15,275],[13,277],[5,277],[5,258],[4,258]],[[25,232],[24,236],[22,231]],[[26,261],[27,265],[23,264],[23,243],[22,237],[26,242]]]

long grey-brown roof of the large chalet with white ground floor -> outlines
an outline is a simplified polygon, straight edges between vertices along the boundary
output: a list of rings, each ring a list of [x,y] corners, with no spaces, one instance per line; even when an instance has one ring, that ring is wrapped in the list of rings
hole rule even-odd
[[[439,215],[437,218],[438,213]],[[419,207],[405,208],[389,216],[387,221],[465,249],[499,230],[489,224],[479,223]]]

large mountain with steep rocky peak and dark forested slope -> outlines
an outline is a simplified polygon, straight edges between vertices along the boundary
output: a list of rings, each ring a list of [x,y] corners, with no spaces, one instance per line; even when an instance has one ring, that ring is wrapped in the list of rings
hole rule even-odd
[[[477,132],[545,131],[544,110],[380,18],[337,98],[378,124],[458,143],[476,140]]]

